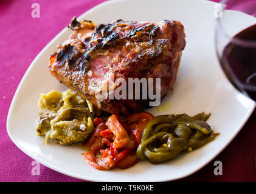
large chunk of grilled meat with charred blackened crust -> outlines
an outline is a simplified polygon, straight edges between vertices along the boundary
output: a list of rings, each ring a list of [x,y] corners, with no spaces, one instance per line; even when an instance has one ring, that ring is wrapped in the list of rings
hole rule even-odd
[[[148,100],[96,99],[95,91],[107,77],[161,78],[161,98],[171,90],[185,47],[183,25],[178,21],[125,22],[68,25],[73,34],[50,58],[50,72],[58,81],[100,110],[127,114],[148,106]]]

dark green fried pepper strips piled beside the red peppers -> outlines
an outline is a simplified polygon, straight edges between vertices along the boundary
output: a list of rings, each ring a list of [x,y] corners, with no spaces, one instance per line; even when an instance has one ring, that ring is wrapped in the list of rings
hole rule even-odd
[[[204,146],[218,135],[206,122],[209,116],[204,112],[192,117],[186,114],[156,116],[145,127],[137,158],[157,164]]]

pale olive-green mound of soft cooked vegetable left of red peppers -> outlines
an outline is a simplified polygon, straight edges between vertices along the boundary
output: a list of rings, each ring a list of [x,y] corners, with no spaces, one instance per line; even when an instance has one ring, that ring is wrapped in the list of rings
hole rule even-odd
[[[36,133],[46,136],[46,142],[52,139],[61,145],[73,144],[84,141],[94,130],[91,102],[70,89],[41,94],[38,111],[41,116],[35,121]]]

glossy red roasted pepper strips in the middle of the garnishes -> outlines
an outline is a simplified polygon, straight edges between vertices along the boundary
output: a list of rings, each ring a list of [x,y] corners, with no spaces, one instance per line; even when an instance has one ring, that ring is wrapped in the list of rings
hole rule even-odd
[[[88,164],[97,170],[127,169],[136,164],[140,138],[152,119],[153,115],[147,112],[134,113],[128,118],[111,115],[106,122],[94,119],[96,129],[85,144],[90,147],[85,155]]]

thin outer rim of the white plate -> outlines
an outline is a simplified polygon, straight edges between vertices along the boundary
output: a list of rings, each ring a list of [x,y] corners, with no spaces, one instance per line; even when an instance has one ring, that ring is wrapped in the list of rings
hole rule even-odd
[[[80,15],[77,19],[81,19],[83,18],[85,15],[88,15],[89,12],[93,12],[94,10],[96,10],[97,8],[99,7],[102,7],[104,5],[107,5],[107,4],[112,4],[112,3],[115,3],[115,2],[125,2],[125,1],[136,1],[136,0],[109,0],[109,1],[105,1],[105,2],[102,2],[98,5],[96,5],[95,7],[92,7],[91,9],[89,9],[88,11],[86,11],[85,13],[83,13],[82,15]],[[182,1],[199,1],[201,3],[204,3],[204,4],[219,4],[217,2],[213,2],[213,1],[206,1],[206,0],[182,0]],[[10,139],[13,141],[13,143],[15,144],[15,146],[17,146],[22,152],[24,152],[26,155],[30,156],[30,158],[32,159],[35,159],[36,161],[40,162],[40,164],[43,164],[44,166],[46,167],[49,167],[50,169],[52,170],[55,170],[59,173],[63,173],[64,175],[67,175],[67,176],[71,176],[71,177],[74,177],[74,178],[78,178],[78,179],[82,179],[82,180],[85,180],[85,181],[120,181],[120,180],[106,180],[106,179],[101,179],[101,178],[94,178],[94,177],[91,177],[91,176],[87,176],[87,175],[77,175],[77,174],[74,174],[74,173],[71,173],[71,172],[68,172],[67,170],[63,170],[61,169],[60,167],[58,166],[55,166],[53,164],[50,164],[49,162],[45,161],[44,159],[41,159],[40,157],[36,156],[36,155],[33,155],[32,153],[30,153],[28,150],[24,149],[19,143],[18,141],[16,141],[16,139],[12,136],[11,132],[10,132],[10,121],[12,121],[12,112],[14,110],[14,107],[17,103],[17,98],[18,98],[18,93],[20,92],[21,88],[22,88],[22,85],[24,85],[24,81],[26,80],[27,76],[29,75],[30,71],[32,70],[32,68],[35,66],[36,64],[36,61],[38,60],[38,58],[40,58],[40,56],[47,50],[49,49],[50,45],[56,41],[56,39],[60,38],[61,35],[63,35],[64,32],[66,32],[67,28],[63,28],[63,30],[61,30],[60,33],[58,33],[41,51],[40,53],[38,53],[38,55],[36,55],[35,59],[33,59],[33,61],[31,62],[31,64],[29,65],[29,68],[26,70],[26,73],[24,73],[24,75],[22,76],[22,79],[21,81],[19,82],[19,85],[16,89],[16,92],[15,92],[15,95],[13,96],[13,99],[12,99],[12,103],[10,105],[10,108],[9,108],[9,112],[8,112],[8,115],[7,115],[7,121],[6,121],[6,129],[7,129],[7,133],[10,137]],[[206,166],[207,164],[209,164],[210,161],[212,161],[214,158],[216,158],[216,156],[218,156],[221,152],[223,152],[224,149],[226,149],[226,147],[230,144],[231,141],[233,141],[233,139],[235,138],[235,136],[238,135],[238,133],[241,131],[241,129],[243,128],[244,124],[247,122],[247,120],[249,119],[249,117],[252,115],[252,112],[254,111],[255,109],[255,102],[252,101],[251,105],[249,106],[249,108],[247,109],[247,113],[246,115],[244,116],[244,119],[242,122],[240,122],[240,125],[237,127],[237,130],[235,131],[235,133],[232,134],[232,136],[230,136],[230,139],[229,141],[226,141],[226,143],[224,144],[224,146],[219,150],[219,152],[216,152],[215,155],[213,155],[210,159],[208,159],[206,162],[204,162],[204,164],[202,164],[201,166],[198,166],[196,169],[190,171],[189,173],[185,173],[184,175],[182,176],[179,176],[178,178],[171,178],[171,179],[161,179],[161,178],[156,178],[154,179],[153,181],[154,182],[162,182],[162,181],[174,181],[176,179],[182,179],[182,178],[185,178],[187,176],[190,176],[192,175],[193,173],[197,172],[198,170],[202,169],[204,166]],[[122,182],[128,182],[128,181],[122,181]],[[144,181],[143,181],[144,182]]]

